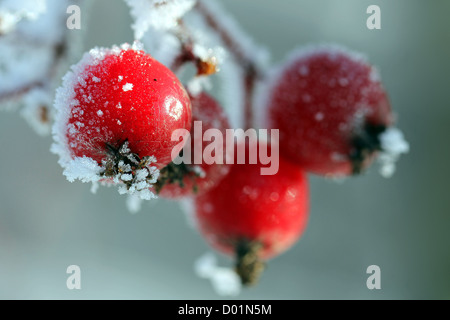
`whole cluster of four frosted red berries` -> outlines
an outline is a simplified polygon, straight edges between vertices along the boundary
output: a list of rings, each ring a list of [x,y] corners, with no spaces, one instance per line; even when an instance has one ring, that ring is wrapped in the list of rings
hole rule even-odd
[[[257,112],[265,113],[265,125],[279,129],[280,141],[245,149],[279,143],[275,175],[261,175],[261,162],[176,165],[174,130],[189,131],[193,121],[202,121],[204,131],[230,127],[219,103],[206,93],[188,94],[172,71],[140,48],[94,49],[57,92],[53,150],[71,180],[117,184],[142,198],[148,192],[193,197],[200,232],[236,257],[242,283],[251,284],[263,261],[288,249],[305,230],[305,172],[361,172],[393,123],[375,69],[341,49],[294,54],[267,81],[264,95]],[[195,141],[189,143],[196,150]]]

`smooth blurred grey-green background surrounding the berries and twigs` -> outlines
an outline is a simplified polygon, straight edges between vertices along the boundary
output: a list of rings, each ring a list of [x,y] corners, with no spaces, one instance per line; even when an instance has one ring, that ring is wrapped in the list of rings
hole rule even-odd
[[[376,168],[344,183],[311,177],[306,233],[238,298],[449,299],[450,2],[222,2],[275,62],[309,43],[367,53],[412,147],[391,179]],[[381,7],[382,30],[366,28],[370,4]],[[132,41],[130,23],[122,1],[92,1],[85,49]],[[17,113],[1,113],[0,298],[220,298],[193,272],[208,247],[176,203],[131,215],[115,189],[92,195],[68,183],[50,144]],[[71,264],[81,267],[78,291],[66,288]],[[366,287],[372,264],[381,290]]]

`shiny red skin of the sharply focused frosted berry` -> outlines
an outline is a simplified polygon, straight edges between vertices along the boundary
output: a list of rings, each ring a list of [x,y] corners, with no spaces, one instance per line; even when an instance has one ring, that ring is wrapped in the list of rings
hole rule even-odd
[[[101,164],[107,144],[119,149],[128,141],[140,158],[154,156],[158,168],[171,161],[176,129],[191,127],[189,97],[177,77],[143,51],[106,50],[104,58],[87,64],[74,86],[67,123],[72,157]]]

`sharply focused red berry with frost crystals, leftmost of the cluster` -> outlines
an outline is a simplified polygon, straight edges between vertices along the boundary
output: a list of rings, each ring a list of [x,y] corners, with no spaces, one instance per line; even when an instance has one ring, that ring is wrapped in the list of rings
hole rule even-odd
[[[143,180],[156,180],[151,163],[162,168],[172,160],[178,144],[172,132],[190,130],[185,89],[168,68],[135,46],[93,49],[72,69],[57,91],[53,129],[53,150],[66,175],[95,182],[85,178],[85,168],[94,167],[87,158],[101,166],[94,171],[102,177],[124,183],[130,193],[141,190]],[[77,159],[85,159],[76,162],[84,166],[81,173],[70,165]]]

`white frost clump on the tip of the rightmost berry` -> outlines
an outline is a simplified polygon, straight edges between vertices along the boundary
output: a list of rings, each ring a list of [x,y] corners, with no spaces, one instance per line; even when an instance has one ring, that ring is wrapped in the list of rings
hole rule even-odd
[[[390,178],[395,173],[395,163],[400,156],[409,152],[409,143],[397,128],[388,128],[379,138],[382,149],[378,157],[381,164],[380,174]]]

